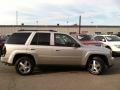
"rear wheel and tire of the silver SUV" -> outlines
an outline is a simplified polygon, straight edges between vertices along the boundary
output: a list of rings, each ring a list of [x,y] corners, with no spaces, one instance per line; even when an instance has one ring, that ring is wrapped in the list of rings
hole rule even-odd
[[[17,60],[15,69],[20,75],[29,75],[33,72],[34,63],[29,57],[21,57]]]

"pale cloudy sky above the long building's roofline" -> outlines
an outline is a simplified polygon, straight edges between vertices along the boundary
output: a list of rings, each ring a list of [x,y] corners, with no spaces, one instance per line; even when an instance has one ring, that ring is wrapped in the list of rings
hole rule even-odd
[[[0,0],[0,25],[120,25],[120,0]]]

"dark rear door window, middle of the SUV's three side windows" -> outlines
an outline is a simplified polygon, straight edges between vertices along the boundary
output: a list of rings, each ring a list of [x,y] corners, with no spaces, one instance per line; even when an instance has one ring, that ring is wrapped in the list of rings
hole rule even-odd
[[[31,45],[50,45],[50,33],[36,33]]]

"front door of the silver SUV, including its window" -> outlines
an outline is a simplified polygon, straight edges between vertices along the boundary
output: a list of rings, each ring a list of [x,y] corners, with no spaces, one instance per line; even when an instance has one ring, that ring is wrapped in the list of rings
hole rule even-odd
[[[69,35],[55,33],[52,60],[54,64],[79,65],[82,53],[80,49],[80,45]]]

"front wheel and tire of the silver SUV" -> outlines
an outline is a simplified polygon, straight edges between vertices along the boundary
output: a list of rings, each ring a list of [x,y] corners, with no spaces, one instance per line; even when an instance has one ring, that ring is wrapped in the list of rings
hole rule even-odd
[[[105,63],[100,57],[93,57],[88,61],[87,69],[91,74],[99,75],[105,70]]]

